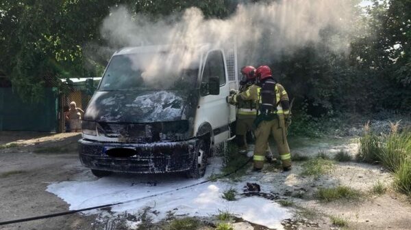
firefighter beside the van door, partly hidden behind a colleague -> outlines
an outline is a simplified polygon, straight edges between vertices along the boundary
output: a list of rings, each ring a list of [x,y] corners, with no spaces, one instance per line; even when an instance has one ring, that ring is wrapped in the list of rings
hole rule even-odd
[[[244,66],[241,68],[242,79],[240,81],[239,93],[247,91],[251,85],[256,83],[254,72],[256,68],[253,66]],[[238,100],[237,102],[229,101],[230,104],[237,106],[237,122],[236,122],[236,144],[239,154],[247,154],[247,132],[250,132],[253,127],[253,122],[256,119],[257,108],[256,102],[253,100]],[[273,160],[273,153],[269,145],[266,148],[266,160]]]

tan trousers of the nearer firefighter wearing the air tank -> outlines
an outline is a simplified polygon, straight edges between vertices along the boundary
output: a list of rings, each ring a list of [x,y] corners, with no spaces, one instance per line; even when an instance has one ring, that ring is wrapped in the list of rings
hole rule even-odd
[[[256,169],[262,169],[264,166],[264,155],[270,134],[277,145],[283,167],[291,166],[291,154],[283,115],[277,115],[276,118],[269,121],[261,121],[254,134],[256,135],[256,149],[254,149],[253,161]]]

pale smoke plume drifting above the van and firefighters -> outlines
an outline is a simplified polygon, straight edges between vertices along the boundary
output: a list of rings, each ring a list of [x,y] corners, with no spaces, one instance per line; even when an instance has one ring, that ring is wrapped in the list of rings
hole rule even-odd
[[[206,19],[198,8],[188,8],[182,16],[155,22],[119,7],[105,18],[101,34],[114,47],[184,44],[184,49],[177,45],[171,48],[173,58],[149,60],[150,64],[144,65],[144,76],[161,76],[160,72],[188,68],[199,57],[197,45],[209,42],[223,47],[236,42],[240,65],[258,66],[260,57],[270,61],[306,44],[347,53],[352,7],[347,0],[283,0],[239,4],[236,12],[224,20]],[[321,37],[325,29],[339,35],[325,41]]]

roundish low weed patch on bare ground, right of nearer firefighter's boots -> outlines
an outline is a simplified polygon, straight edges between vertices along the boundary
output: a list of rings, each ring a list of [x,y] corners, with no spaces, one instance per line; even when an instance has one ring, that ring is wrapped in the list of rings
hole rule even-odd
[[[334,168],[334,162],[323,158],[314,158],[302,164],[303,171],[300,175],[319,178]]]

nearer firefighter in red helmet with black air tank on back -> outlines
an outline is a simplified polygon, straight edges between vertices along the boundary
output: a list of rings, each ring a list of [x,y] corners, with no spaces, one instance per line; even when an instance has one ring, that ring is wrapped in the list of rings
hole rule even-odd
[[[284,171],[291,169],[290,148],[287,143],[286,129],[291,123],[290,103],[286,90],[277,83],[269,66],[260,66],[254,73],[258,83],[246,91],[229,97],[229,101],[253,100],[258,113],[256,126],[256,148],[254,149],[254,170],[260,171],[264,166],[264,153],[270,134],[277,145]]]

